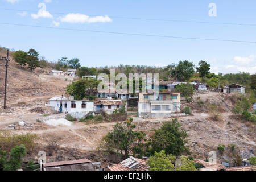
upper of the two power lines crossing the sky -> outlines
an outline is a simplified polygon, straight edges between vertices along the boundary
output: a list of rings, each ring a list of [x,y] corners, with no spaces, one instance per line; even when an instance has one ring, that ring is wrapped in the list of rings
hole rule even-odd
[[[4,8],[0,8],[0,10],[27,11],[27,12],[31,12],[31,13],[37,13],[38,12],[38,11],[34,11],[34,10],[4,9]],[[51,14],[62,14],[62,15],[68,14],[68,13],[57,13],[57,12],[52,12],[52,11],[49,11],[49,13],[51,13]],[[88,15],[88,16],[101,16],[101,15]],[[109,18],[147,20],[147,21],[155,21],[155,22],[181,22],[181,23],[223,24],[223,25],[235,25],[235,26],[256,26],[256,24],[252,24],[252,23],[204,22],[204,21],[194,21],[194,20],[136,18],[136,17],[127,17],[127,16],[109,16]]]

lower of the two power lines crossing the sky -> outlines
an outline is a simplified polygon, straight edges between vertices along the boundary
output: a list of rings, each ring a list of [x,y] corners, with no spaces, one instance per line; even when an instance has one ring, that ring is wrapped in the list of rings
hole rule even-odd
[[[245,40],[192,38],[192,37],[166,36],[166,35],[152,35],[152,34],[134,34],[134,33],[126,33],[126,32],[110,32],[110,31],[83,30],[83,29],[73,29],[73,28],[45,27],[45,26],[35,26],[35,25],[29,25],[29,24],[16,24],[16,23],[3,23],[3,22],[0,22],[0,24],[5,24],[5,25],[9,25],[9,26],[49,28],[49,29],[55,29],[55,30],[69,30],[69,31],[81,31],[81,32],[96,32],[96,33],[117,34],[117,35],[151,36],[151,37],[159,37],[159,38],[193,39],[193,40],[213,40],[213,41],[221,41],[221,42],[256,43],[256,41],[245,41]]]

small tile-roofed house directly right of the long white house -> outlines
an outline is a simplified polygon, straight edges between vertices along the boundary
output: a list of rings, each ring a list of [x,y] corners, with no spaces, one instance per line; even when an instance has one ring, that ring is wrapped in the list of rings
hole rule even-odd
[[[123,107],[122,100],[101,100],[94,104],[94,110],[96,112],[105,112],[112,114],[115,109]]]

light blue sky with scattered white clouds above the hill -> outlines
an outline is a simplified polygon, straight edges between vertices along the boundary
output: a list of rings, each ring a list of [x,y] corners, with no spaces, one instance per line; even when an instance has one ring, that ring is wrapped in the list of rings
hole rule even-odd
[[[214,73],[253,74],[255,7],[255,0],[0,0],[0,46],[34,48],[48,61],[77,57],[85,67],[204,60]]]

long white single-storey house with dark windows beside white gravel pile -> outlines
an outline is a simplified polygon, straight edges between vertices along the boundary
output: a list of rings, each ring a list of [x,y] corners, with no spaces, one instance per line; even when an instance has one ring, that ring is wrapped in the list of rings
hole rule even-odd
[[[93,102],[74,100],[73,96],[69,97],[69,100],[64,96],[52,97],[49,99],[47,106],[52,107],[53,110],[60,113],[68,113],[77,119],[94,111]]]

